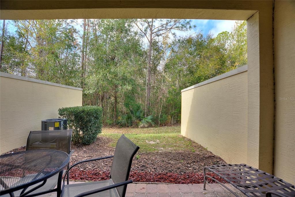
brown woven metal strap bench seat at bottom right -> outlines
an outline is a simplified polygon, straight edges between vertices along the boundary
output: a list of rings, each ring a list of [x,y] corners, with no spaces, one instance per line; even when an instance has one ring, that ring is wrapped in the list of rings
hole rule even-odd
[[[218,180],[206,175],[206,170],[213,172],[223,180],[232,184],[246,196],[295,196],[295,186],[281,178],[267,172],[256,169],[246,164],[220,164],[204,167],[204,188],[206,189],[207,178],[215,180],[227,188]],[[231,191],[229,188],[227,188]],[[235,196],[239,197],[233,191]]]

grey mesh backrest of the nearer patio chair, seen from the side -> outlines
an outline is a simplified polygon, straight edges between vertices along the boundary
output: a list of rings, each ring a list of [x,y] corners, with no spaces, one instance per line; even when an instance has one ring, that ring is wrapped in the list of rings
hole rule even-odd
[[[110,172],[115,184],[128,180],[132,159],[138,149],[139,147],[124,135],[118,140]],[[116,188],[120,197],[125,196],[126,188],[127,185]]]

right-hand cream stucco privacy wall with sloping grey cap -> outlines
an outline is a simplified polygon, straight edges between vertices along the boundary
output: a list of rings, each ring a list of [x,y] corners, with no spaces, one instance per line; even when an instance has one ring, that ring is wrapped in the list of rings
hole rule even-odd
[[[183,89],[181,134],[228,163],[247,163],[247,81],[242,66]]]

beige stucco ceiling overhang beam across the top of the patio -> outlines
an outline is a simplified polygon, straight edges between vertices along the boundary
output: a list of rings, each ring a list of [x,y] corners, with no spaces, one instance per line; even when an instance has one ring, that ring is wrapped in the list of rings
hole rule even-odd
[[[263,2],[263,1],[262,1]],[[263,3],[262,3],[263,4]],[[262,5],[263,6],[263,5]],[[185,18],[247,20],[253,1],[1,0],[1,19]]]

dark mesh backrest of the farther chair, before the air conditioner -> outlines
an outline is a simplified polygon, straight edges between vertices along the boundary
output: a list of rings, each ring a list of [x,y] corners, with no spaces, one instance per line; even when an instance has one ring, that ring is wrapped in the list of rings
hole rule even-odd
[[[26,150],[55,149],[66,153],[71,151],[72,129],[52,131],[31,131]]]

